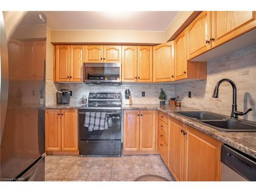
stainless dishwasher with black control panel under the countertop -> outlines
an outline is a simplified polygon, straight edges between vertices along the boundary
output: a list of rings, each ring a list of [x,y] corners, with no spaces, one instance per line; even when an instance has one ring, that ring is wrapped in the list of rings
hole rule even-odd
[[[256,159],[222,145],[221,181],[256,181]]]

